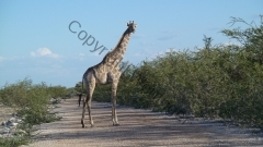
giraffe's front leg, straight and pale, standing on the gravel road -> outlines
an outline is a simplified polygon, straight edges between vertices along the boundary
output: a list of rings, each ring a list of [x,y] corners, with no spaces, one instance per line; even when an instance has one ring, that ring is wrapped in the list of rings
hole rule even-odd
[[[117,120],[117,112],[116,112],[116,91],[117,91],[117,82],[115,81],[112,84],[112,121],[114,126],[119,125]]]

